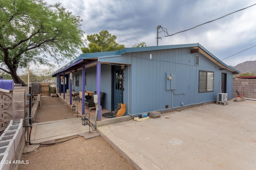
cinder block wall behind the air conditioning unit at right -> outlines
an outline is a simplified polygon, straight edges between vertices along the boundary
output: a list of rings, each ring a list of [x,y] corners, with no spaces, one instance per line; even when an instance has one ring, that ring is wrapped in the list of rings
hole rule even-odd
[[[233,98],[238,97],[238,93],[245,98],[256,99],[256,79],[238,78],[233,80]]]

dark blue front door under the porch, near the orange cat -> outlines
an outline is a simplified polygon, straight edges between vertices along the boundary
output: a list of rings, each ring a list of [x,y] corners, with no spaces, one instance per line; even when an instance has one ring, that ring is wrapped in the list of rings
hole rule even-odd
[[[123,77],[124,73],[121,70],[121,66],[113,66],[113,92],[114,92],[114,100],[113,100],[113,110],[118,107],[118,103],[123,102]]]

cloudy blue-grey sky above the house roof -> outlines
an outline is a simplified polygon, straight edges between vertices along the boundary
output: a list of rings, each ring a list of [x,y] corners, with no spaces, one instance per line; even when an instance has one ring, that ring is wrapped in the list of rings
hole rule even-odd
[[[116,42],[131,47],[142,41],[156,46],[156,28],[168,34],[190,29],[255,4],[255,0],[46,0],[61,2],[80,16],[86,35],[108,30]],[[167,34],[165,34],[167,35]],[[256,45],[256,5],[195,29],[164,37],[158,45],[200,43],[220,60]],[[223,60],[235,66],[256,60],[256,47]],[[66,64],[66,63],[65,63]],[[64,64],[63,64],[64,65]]]

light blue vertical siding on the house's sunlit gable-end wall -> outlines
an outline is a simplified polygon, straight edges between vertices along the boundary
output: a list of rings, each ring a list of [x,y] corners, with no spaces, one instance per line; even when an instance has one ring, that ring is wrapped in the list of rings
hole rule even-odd
[[[150,59],[152,54],[152,59]],[[227,73],[228,98],[232,98],[232,72],[220,70],[220,67],[201,53],[199,66],[195,65],[195,54],[190,54],[190,48],[167,49],[127,53],[132,57],[132,65],[124,72],[124,103],[129,107],[130,114],[165,109],[165,106],[179,107],[215,101],[220,93],[222,72]],[[214,72],[214,92],[198,92],[199,70]],[[176,74],[176,88],[166,89],[166,72]],[[129,90],[129,102],[128,102]],[[128,106],[129,103],[129,106]]]

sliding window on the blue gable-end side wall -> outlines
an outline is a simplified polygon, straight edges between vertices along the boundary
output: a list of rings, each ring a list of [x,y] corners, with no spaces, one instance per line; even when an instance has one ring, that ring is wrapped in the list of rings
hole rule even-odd
[[[199,71],[199,92],[214,91],[214,72]]]

